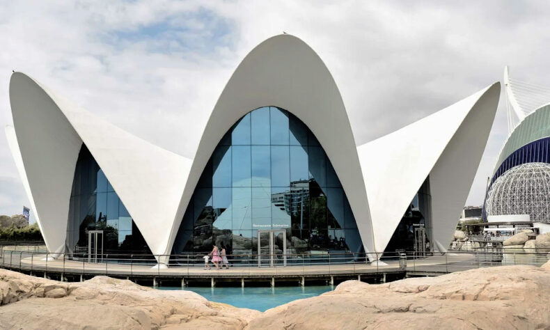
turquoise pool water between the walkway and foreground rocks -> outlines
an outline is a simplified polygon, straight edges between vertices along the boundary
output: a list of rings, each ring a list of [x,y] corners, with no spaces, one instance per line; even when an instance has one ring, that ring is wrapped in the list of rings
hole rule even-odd
[[[159,287],[159,290],[181,290],[177,287]],[[210,301],[230,304],[235,307],[267,311],[279,305],[296,299],[318,296],[331,291],[329,285],[302,287],[275,287],[275,288],[185,288],[193,291]]]

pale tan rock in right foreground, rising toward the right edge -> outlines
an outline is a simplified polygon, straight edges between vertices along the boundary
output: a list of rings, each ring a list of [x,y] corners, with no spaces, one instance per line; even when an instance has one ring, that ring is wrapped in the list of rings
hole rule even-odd
[[[347,281],[320,297],[272,308],[247,329],[543,329],[550,327],[549,294],[550,269],[532,266],[384,285]]]

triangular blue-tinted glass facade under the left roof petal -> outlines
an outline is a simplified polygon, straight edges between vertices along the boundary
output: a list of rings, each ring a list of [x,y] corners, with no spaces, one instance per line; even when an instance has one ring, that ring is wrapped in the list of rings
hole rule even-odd
[[[126,207],[86,145],[82,145],[70,196],[68,251],[88,251],[88,231],[103,230],[104,252],[150,253]]]

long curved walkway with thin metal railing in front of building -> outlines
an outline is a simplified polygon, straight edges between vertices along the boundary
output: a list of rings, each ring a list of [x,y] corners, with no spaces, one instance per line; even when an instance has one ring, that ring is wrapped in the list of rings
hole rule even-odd
[[[540,266],[548,261],[548,251],[449,251],[448,253],[290,253],[283,255],[227,255],[230,272],[204,269],[201,254],[157,255],[105,253],[104,262],[88,262],[87,253],[49,253],[45,246],[0,245],[0,267],[29,272],[111,276],[312,276],[333,274],[375,274],[410,272],[445,274],[480,267],[501,265]],[[426,256],[427,254],[427,256]],[[368,257],[376,259],[369,262]],[[262,260],[274,260],[267,267]],[[286,267],[282,258],[286,258]],[[161,260],[164,262],[157,262]],[[166,269],[164,265],[168,266]],[[220,262],[221,267],[223,266]]]

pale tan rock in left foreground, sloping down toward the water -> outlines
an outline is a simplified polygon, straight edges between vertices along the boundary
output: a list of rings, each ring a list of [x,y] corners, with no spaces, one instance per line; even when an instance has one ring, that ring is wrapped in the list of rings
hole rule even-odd
[[[98,276],[63,283],[0,269],[0,329],[242,329],[260,314]]]

